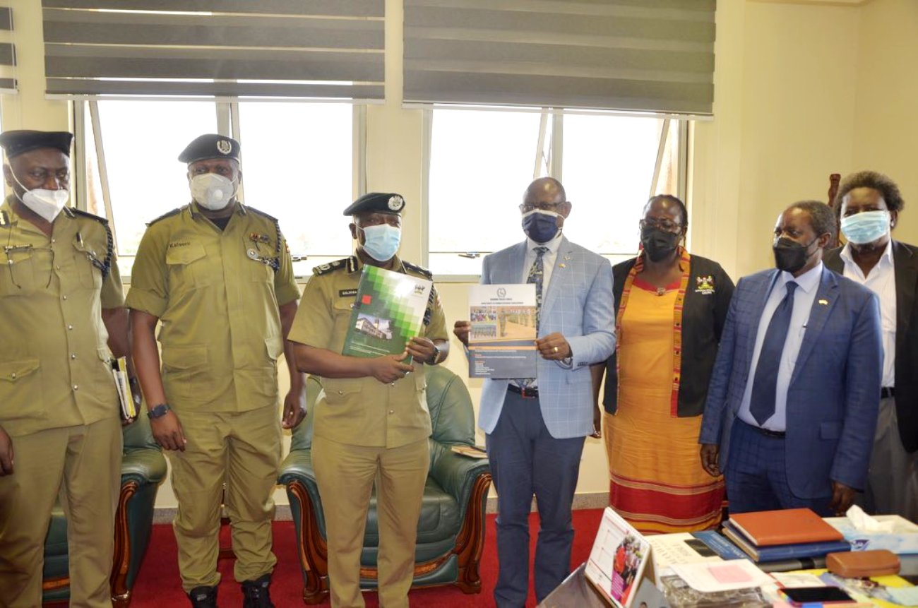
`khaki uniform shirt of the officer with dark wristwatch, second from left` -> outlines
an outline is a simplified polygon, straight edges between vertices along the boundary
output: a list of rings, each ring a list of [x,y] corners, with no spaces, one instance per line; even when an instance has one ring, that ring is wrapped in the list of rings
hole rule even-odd
[[[162,384],[176,411],[277,404],[278,307],[299,290],[277,220],[236,206],[223,231],[191,203],[140,241],[128,307],[162,321]]]

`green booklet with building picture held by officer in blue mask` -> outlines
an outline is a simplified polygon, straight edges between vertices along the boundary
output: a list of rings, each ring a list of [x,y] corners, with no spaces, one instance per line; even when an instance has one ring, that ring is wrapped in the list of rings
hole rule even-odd
[[[426,279],[364,265],[341,355],[404,353],[405,344],[420,335],[432,286]]]

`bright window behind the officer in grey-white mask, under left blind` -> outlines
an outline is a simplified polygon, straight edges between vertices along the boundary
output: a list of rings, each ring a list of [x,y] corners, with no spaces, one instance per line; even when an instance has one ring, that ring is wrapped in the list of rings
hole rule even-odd
[[[241,141],[240,197],[280,221],[298,276],[351,253],[341,208],[355,191],[353,125],[362,113],[350,104],[78,104],[86,208],[112,220],[122,275],[130,274],[146,223],[190,201],[177,159],[202,133],[234,132]]]

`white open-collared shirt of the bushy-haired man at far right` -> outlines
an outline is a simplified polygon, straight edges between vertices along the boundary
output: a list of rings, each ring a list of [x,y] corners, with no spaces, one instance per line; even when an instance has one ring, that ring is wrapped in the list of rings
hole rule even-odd
[[[844,276],[869,287],[879,298],[879,318],[883,326],[883,386],[896,386],[896,267],[892,258],[892,239],[879,262],[864,276],[846,244],[841,253],[845,262]]]

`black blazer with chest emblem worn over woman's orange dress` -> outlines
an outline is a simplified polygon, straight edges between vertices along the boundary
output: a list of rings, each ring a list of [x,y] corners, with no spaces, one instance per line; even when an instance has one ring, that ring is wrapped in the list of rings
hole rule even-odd
[[[625,279],[636,262],[635,257],[612,267],[616,314]],[[700,288],[700,277],[708,276],[713,278],[714,283],[710,291]],[[682,310],[682,370],[677,402],[679,418],[700,416],[704,411],[708,382],[717,356],[717,344],[721,341],[723,321],[727,318],[732,296],[733,281],[721,265],[700,255],[692,255],[689,261],[689,285],[686,287]],[[616,353],[612,353],[606,360],[606,385],[602,404],[610,414],[618,410],[619,376],[616,356]]]

